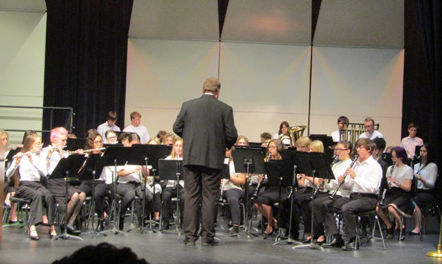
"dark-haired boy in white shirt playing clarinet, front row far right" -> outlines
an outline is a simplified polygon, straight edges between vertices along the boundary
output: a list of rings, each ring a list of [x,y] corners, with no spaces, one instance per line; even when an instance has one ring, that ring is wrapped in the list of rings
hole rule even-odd
[[[359,248],[359,244],[356,244],[356,213],[375,210],[378,203],[382,168],[371,156],[373,149],[375,149],[373,141],[359,139],[356,142],[358,160],[353,168],[347,168],[344,175],[337,179],[338,182],[344,180],[342,187],[350,190],[349,198],[341,197],[333,204],[333,210],[342,212],[345,235],[349,239],[344,250],[353,251]],[[327,224],[331,223],[324,222],[325,229],[330,227]],[[339,234],[335,234],[334,237],[337,241],[342,240]]]

